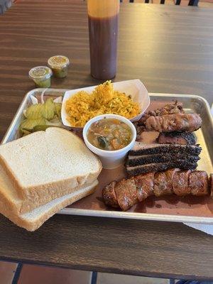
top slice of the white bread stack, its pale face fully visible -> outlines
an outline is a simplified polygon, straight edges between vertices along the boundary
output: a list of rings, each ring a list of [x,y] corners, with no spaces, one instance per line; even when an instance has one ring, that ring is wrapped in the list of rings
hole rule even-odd
[[[0,163],[18,197],[51,200],[60,190],[93,182],[102,164],[82,139],[70,131],[50,127],[0,146]]]

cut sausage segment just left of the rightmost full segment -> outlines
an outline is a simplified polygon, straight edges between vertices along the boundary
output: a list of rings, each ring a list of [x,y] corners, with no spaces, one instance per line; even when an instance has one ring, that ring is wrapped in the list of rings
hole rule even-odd
[[[189,176],[191,170],[180,170],[173,176],[173,192],[178,196],[190,194]]]

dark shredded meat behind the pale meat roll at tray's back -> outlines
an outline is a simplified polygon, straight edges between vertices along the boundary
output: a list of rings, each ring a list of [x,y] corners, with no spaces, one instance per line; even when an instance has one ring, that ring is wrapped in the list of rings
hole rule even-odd
[[[146,111],[141,119],[138,121],[138,126],[143,126],[145,124],[146,119],[150,116],[162,116],[165,114],[181,114],[184,113],[182,109],[182,102],[176,101],[173,104],[166,104],[161,109],[155,109],[154,111]]]

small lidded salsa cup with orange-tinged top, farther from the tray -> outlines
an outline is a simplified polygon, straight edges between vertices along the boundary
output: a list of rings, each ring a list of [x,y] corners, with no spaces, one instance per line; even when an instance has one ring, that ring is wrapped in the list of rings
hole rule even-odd
[[[48,59],[48,66],[53,70],[53,75],[58,78],[67,76],[70,60],[62,55],[55,55]]]

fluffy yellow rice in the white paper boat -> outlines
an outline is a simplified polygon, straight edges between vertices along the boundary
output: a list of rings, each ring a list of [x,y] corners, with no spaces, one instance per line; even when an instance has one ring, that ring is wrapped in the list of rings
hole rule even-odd
[[[131,119],[140,113],[139,105],[131,96],[115,91],[111,81],[99,84],[92,94],[77,92],[65,105],[67,121],[72,126],[83,127],[89,119],[100,114],[119,114]]]

